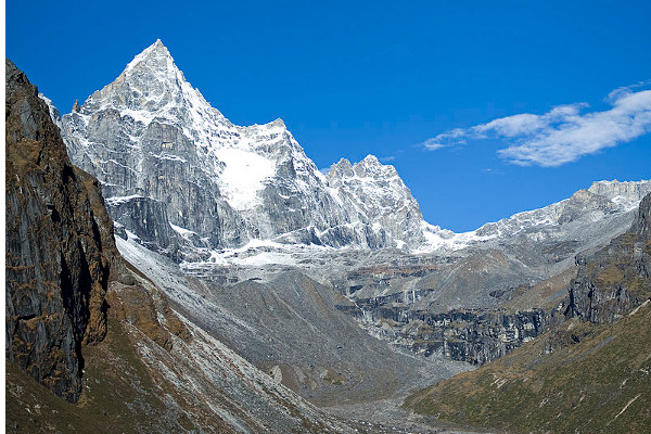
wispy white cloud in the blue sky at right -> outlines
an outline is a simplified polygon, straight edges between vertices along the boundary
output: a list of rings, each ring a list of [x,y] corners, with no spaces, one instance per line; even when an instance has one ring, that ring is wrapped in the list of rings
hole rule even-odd
[[[605,102],[612,107],[603,112],[582,113],[589,107],[583,102],[559,105],[542,115],[523,113],[456,128],[423,145],[434,151],[494,138],[509,144],[497,153],[511,163],[560,166],[651,132],[651,90],[633,90],[644,85],[648,82],[610,92]]]

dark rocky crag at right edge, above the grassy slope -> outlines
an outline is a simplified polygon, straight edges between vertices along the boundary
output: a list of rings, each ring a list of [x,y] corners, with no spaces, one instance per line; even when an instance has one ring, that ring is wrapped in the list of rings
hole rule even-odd
[[[651,297],[651,194],[629,231],[603,250],[577,257],[578,276],[569,289],[566,316],[615,322]]]

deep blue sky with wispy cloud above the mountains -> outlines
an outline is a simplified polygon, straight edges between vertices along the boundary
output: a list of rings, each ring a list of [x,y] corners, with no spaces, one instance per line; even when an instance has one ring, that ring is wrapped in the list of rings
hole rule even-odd
[[[5,52],[67,113],[161,38],[233,123],[375,154],[455,231],[651,178],[651,2],[400,3],[8,0]]]

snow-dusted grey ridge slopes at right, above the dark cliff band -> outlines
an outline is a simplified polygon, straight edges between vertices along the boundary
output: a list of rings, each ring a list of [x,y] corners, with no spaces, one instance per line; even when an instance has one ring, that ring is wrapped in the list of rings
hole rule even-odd
[[[650,191],[651,181],[595,182],[566,200],[486,224],[472,232],[439,231],[433,235],[439,238],[438,248],[401,259],[388,252],[360,255],[362,259],[348,267],[345,278],[336,271],[345,268],[342,264],[333,266],[332,275],[353,299],[391,299],[416,291],[421,294],[408,304],[409,309],[497,307],[521,292],[519,288],[562,273],[574,267],[576,255],[599,248],[626,231],[641,199]],[[348,255],[347,260],[353,259],[354,255]],[[309,263],[303,267],[309,267]],[[544,307],[549,303],[529,302],[519,307]]]

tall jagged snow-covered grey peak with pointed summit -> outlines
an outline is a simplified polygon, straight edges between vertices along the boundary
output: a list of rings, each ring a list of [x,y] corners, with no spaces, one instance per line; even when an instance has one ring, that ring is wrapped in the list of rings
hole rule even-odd
[[[173,258],[251,240],[371,248],[423,241],[418,204],[393,167],[374,157],[356,166],[356,179],[374,179],[372,191],[334,167],[331,187],[282,120],[231,124],[159,40],[61,125],[71,158],[101,181],[115,221]],[[386,171],[390,190],[378,188]],[[381,195],[376,207],[350,207],[369,194]]]

